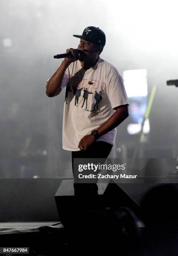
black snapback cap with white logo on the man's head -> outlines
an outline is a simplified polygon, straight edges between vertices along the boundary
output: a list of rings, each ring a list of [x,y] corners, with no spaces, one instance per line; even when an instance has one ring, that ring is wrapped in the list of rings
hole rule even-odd
[[[106,43],[105,33],[100,28],[93,27],[93,26],[85,28],[81,36],[79,35],[73,35],[73,36],[82,38],[88,42],[102,45],[102,46],[105,46],[105,43]]]

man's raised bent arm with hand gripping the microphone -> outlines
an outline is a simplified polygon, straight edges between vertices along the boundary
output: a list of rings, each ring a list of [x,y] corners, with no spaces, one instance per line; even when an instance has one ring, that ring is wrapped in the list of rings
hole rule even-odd
[[[73,57],[66,57],[63,62],[60,64],[60,67],[56,72],[50,77],[48,84],[46,86],[46,95],[48,97],[57,96],[61,92],[61,84],[63,82],[63,77],[65,70],[68,68],[70,63],[77,60],[77,50],[76,49],[67,49],[66,52],[71,52]]]

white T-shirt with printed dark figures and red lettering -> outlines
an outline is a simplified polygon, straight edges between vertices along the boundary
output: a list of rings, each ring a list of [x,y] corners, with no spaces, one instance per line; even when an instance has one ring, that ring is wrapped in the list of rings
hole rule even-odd
[[[85,70],[80,61],[69,65],[62,86],[66,87],[63,113],[63,149],[79,151],[78,143],[97,129],[115,112],[113,108],[128,104],[123,79],[109,61],[99,59]],[[114,144],[116,128],[96,141]]]

